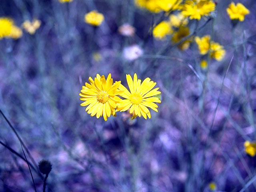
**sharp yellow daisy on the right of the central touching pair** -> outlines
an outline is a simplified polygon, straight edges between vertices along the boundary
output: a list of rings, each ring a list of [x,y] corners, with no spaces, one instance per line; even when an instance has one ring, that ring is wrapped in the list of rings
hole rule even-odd
[[[132,119],[136,116],[143,116],[145,119],[151,118],[150,111],[147,107],[158,112],[158,106],[154,103],[160,103],[161,101],[154,97],[161,92],[158,91],[159,88],[154,88],[156,82],[150,81],[150,78],[146,78],[142,83],[140,79],[137,79],[137,74],[134,74],[133,80],[130,75],[126,75],[126,80],[130,92],[120,84],[119,90],[123,91],[120,96],[125,98],[117,104],[116,111],[126,111],[130,108],[130,114],[133,113]],[[152,90],[152,88],[154,88]]]

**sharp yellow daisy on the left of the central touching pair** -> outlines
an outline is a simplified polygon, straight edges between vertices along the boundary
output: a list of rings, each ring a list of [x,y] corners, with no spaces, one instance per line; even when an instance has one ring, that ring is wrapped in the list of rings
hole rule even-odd
[[[87,106],[85,109],[88,111],[88,114],[91,116],[96,116],[97,118],[103,116],[106,121],[110,115],[115,116],[115,108],[117,102],[120,102],[120,98],[116,95],[122,93],[118,90],[118,87],[121,84],[121,81],[116,81],[113,84],[113,79],[111,74],[108,74],[107,79],[104,75],[96,75],[94,80],[89,77],[89,82],[85,83],[85,86],[82,86],[80,100],[84,101],[81,103],[81,106]]]

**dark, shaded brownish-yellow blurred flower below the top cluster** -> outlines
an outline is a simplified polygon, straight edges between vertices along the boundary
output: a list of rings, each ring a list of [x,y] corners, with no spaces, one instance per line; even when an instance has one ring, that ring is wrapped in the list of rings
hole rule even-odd
[[[190,32],[188,27],[180,27],[179,30],[175,32],[174,35],[172,36],[172,41],[174,43],[177,43],[189,34]],[[191,40],[187,39],[184,42],[182,42],[182,44],[180,44],[178,48],[180,48],[181,50],[187,50],[190,46],[190,42]]]

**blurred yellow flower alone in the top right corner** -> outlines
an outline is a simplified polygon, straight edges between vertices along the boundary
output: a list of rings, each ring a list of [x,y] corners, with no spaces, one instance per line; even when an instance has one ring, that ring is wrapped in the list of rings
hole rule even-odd
[[[226,10],[231,20],[239,19],[240,21],[244,21],[244,16],[250,13],[242,3],[235,5],[234,2],[232,2]]]

